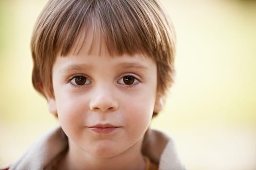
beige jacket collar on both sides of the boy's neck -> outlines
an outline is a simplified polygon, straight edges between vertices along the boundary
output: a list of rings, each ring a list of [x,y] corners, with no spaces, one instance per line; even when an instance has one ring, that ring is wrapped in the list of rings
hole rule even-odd
[[[58,126],[36,141],[9,170],[51,170],[59,155],[68,149],[68,140]],[[148,130],[142,153],[159,165],[159,170],[185,170],[179,161],[172,139],[157,130]]]

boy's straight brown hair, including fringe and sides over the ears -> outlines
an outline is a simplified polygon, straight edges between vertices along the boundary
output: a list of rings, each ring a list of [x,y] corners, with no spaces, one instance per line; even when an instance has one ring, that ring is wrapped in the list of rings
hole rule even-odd
[[[31,39],[32,82],[37,91],[45,95],[44,85],[54,97],[52,67],[57,54],[66,56],[89,29],[102,37],[110,54],[153,57],[158,92],[165,95],[173,83],[175,32],[157,0],[49,0]]]

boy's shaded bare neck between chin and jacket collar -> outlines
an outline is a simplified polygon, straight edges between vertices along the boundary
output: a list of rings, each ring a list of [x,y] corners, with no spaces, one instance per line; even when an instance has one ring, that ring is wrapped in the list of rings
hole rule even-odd
[[[59,170],[145,170],[141,153],[142,139],[126,151],[111,157],[97,157],[81,151],[69,141],[69,150],[59,165]]]

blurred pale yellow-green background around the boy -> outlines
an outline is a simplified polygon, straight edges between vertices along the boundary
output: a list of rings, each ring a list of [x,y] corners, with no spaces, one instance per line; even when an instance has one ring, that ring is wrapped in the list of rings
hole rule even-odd
[[[256,170],[256,1],[161,0],[177,31],[176,83],[152,127],[188,170]],[[0,167],[58,124],[31,84],[46,0],[0,0]]]

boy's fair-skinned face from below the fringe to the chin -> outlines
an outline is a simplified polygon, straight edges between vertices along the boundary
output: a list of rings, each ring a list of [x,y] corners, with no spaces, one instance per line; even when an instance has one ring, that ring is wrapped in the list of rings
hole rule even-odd
[[[70,149],[99,157],[138,150],[160,108],[157,66],[142,54],[88,56],[81,50],[58,56],[53,87],[55,99],[49,106],[58,113]]]

